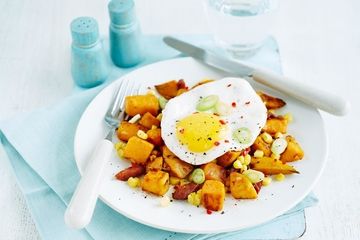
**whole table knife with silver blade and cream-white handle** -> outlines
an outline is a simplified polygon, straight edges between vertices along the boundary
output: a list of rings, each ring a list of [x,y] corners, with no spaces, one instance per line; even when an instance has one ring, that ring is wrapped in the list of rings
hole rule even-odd
[[[251,77],[254,81],[272,89],[292,96],[310,106],[325,112],[344,116],[350,110],[350,103],[343,97],[322,89],[315,89],[288,77],[284,77],[269,70],[234,61],[221,55],[216,55],[208,50],[194,46],[174,37],[164,37],[164,42],[170,47],[185,53],[205,64],[217,69],[242,77]]]

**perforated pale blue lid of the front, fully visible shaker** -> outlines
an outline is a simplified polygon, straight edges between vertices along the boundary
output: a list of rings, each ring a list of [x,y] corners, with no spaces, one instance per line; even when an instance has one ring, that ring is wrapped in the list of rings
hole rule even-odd
[[[87,46],[99,38],[99,27],[92,17],[78,17],[71,22],[71,36],[76,45]]]

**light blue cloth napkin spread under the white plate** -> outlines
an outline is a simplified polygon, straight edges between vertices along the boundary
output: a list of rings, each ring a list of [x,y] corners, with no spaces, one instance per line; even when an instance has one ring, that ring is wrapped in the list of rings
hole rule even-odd
[[[207,37],[187,39],[199,45],[211,44]],[[178,54],[166,47],[159,36],[148,36],[146,45],[147,58],[142,65]],[[269,40],[251,61],[280,71],[276,43]],[[131,70],[113,67],[107,83]],[[0,122],[1,142],[43,239],[289,239],[304,232],[303,209],[317,202],[312,195],[273,221],[241,232],[194,235],[162,231],[134,222],[101,201],[85,230],[67,228],[63,214],[79,181],[73,156],[74,133],[82,112],[102,88],[77,89],[54,107]]]

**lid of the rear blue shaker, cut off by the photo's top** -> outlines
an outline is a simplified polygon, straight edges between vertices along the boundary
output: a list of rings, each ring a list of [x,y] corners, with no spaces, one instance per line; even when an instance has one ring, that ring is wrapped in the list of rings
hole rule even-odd
[[[116,25],[132,23],[135,16],[133,0],[111,0],[108,4],[110,20]]]

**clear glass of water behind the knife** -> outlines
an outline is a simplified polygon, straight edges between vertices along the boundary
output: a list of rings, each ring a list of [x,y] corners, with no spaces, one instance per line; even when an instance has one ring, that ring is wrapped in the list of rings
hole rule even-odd
[[[277,0],[203,0],[217,45],[235,58],[253,56],[269,36]]]

